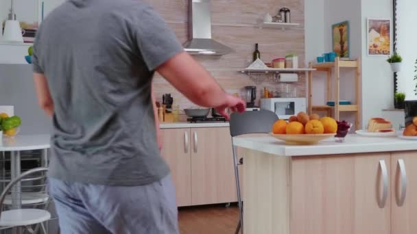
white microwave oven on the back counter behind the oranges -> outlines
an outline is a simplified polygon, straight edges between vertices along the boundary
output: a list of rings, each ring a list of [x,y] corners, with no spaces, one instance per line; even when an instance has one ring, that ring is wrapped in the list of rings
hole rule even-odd
[[[307,101],[305,98],[261,99],[261,109],[275,112],[281,120],[288,120],[298,112],[307,112]]]

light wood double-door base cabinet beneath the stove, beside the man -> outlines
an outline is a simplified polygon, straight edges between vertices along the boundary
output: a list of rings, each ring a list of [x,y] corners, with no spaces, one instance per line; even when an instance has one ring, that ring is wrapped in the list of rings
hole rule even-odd
[[[228,127],[162,131],[179,207],[237,201]]]

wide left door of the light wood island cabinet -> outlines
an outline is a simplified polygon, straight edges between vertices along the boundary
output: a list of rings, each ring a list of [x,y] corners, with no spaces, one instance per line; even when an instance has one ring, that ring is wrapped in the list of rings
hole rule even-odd
[[[291,160],[291,234],[390,234],[390,153]],[[397,234],[397,233],[396,233]]]

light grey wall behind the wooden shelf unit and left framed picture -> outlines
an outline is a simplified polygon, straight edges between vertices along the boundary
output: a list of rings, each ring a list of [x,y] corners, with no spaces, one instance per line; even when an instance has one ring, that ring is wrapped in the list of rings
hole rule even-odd
[[[306,57],[315,62],[322,53],[332,51],[331,26],[342,21],[350,24],[350,57],[361,55],[361,0],[312,0],[306,1]],[[333,79],[334,79],[333,75]],[[355,70],[343,69],[340,80],[340,99],[356,103]],[[313,105],[326,103],[326,73],[313,73]],[[333,87],[335,82],[332,82]],[[332,96],[332,99],[335,97]],[[323,113],[324,114],[324,113]],[[355,114],[344,112],[341,119],[355,121]]]

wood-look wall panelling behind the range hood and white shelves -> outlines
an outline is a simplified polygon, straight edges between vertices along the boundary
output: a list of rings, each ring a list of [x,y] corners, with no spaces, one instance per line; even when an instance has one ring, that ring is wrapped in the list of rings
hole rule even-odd
[[[148,1],[174,29],[180,42],[185,42],[188,34],[188,1]],[[283,7],[291,9],[292,21],[300,23],[299,27],[285,31],[255,27],[259,18],[263,18],[266,13],[274,15]],[[195,59],[208,69],[227,92],[240,93],[243,86],[257,86],[260,96],[264,87],[280,88],[278,83],[272,81],[272,77],[257,80],[256,77],[251,78],[239,72],[248,66],[255,43],[259,43],[261,59],[264,62],[270,62],[273,58],[282,57],[287,53],[296,53],[300,55],[300,66],[305,65],[304,0],[219,0],[211,1],[211,8],[213,38],[232,47],[236,53],[222,57],[195,56]],[[193,106],[158,75],[154,80],[154,86],[158,99],[161,99],[164,93],[171,93],[178,98],[180,107]],[[305,75],[302,75],[294,86],[297,87],[298,96],[305,96]]]

